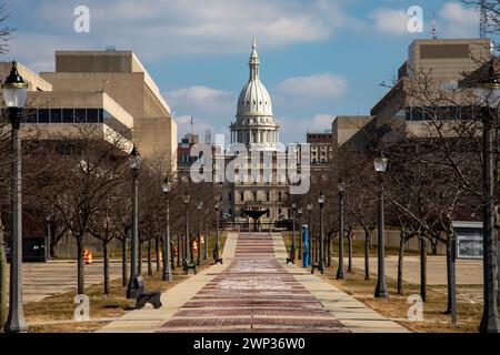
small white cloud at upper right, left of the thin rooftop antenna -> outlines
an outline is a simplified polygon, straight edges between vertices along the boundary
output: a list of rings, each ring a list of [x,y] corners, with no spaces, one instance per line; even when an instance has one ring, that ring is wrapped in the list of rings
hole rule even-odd
[[[370,13],[370,19],[373,20],[374,29],[382,34],[409,34],[407,10],[380,8]]]

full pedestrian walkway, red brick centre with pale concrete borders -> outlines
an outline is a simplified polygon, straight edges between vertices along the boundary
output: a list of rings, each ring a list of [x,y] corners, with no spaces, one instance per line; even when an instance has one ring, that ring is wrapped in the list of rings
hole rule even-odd
[[[224,265],[162,295],[159,311],[133,311],[101,332],[406,332],[337,287],[286,265],[280,234],[229,233]]]

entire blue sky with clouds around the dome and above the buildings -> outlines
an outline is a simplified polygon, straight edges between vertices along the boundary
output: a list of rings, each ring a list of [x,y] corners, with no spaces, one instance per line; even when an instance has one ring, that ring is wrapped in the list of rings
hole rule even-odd
[[[338,114],[367,114],[403,63],[413,39],[477,37],[479,16],[450,0],[3,0],[16,28],[10,52],[34,71],[53,70],[53,51],[133,50],[179,125],[224,133],[248,80],[252,36],[261,77],[284,142],[304,141]],[[407,29],[423,9],[422,33]],[[90,9],[90,32],[73,30],[74,8]]]

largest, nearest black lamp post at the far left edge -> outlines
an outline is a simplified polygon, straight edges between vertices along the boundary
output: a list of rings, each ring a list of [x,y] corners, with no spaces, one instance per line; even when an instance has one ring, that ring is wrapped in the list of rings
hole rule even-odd
[[[22,311],[22,195],[21,195],[21,128],[22,108],[28,95],[28,84],[18,73],[16,62],[6,82],[2,84],[3,101],[9,110],[12,125],[12,227],[10,253],[10,291],[9,316],[4,325],[6,332],[26,332],[28,325]]]

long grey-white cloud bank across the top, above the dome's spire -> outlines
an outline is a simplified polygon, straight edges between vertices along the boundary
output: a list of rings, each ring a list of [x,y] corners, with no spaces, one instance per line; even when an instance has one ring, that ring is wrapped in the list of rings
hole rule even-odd
[[[58,33],[76,44],[132,49],[141,58],[176,54],[227,54],[248,51],[256,34],[259,45],[286,47],[320,42],[338,30],[356,27],[342,10],[344,0],[88,0],[90,33],[72,30],[78,1],[53,0],[34,6],[28,20],[41,33]],[[48,48],[53,50],[52,43]],[[20,45],[29,42],[20,40]],[[32,48],[30,48],[32,49]]]

